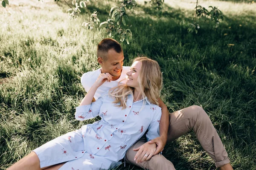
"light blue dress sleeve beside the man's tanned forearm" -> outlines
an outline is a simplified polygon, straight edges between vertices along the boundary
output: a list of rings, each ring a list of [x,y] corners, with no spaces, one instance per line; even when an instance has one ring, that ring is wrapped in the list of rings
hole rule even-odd
[[[162,109],[159,108],[154,113],[153,119],[148,127],[148,133],[146,134],[147,141],[150,141],[151,139],[155,139],[156,137],[160,136],[159,124],[160,124],[161,115],[162,115]]]

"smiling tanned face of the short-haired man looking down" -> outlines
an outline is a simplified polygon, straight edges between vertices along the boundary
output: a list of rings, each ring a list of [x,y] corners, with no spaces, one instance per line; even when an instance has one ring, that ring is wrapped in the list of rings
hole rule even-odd
[[[114,49],[108,51],[107,59],[101,60],[98,58],[99,64],[102,66],[102,73],[109,73],[114,77],[120,77],[122,72],[122,65],[124,64],[124,53],[121,51],[117,53]]]

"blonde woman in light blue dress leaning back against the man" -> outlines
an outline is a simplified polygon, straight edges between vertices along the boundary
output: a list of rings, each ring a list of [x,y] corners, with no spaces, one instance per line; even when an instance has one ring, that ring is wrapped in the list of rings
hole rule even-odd
[[[127,76],[126,85],[112,88],[92,103],[97,88],[112,80],[110,74],[101,74],[76,108],[76,119],[99,115],[100,121],[47,142],[9,170],[108,169],[120,164],[126,150],[145,130],[148,140],[158,137],[161,108],[157,101],[162,88],[158,63],[147,57],[136,58]],[[150,147],[145,157],[152,156],[156,145]]]

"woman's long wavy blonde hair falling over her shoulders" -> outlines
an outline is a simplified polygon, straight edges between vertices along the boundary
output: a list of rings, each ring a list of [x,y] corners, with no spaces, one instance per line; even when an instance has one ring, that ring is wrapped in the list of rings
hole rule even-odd
[[[158,98],[163,86],[163,75],[159,64],[157,61],[149,59],[148,57],[137,57],[134,59],[134,62],[135,61],[141,62],[138,82],[144,99],[143,105],[145,105],[145,97],[147,97],[148,101],[152,104],[159,105]],[[120,102],[117,106],[127,108],[127,97],[129,94],[133,96],[133,91],[134,88],[128,85],[119,85],[111,88],[109,94],[115,99],[113,103],[117,104]]]

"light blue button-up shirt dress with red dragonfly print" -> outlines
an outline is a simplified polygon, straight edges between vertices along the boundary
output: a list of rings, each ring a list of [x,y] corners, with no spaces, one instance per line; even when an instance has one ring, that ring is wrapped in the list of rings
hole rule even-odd
[[[133,102],[128,96],[128,108],[112,103],[113,98],[103,95],[91,105],[76,108],[76,119],[82,121],[100,116],[101,120],[84,125],[81,129],[59,136],[33,150],[40,159],[40,166],[67,161],[60,170],[99,170],[121,164],[125,152],[145,131],[147,139],[159,136],[161,108],[147,98]],[[143,102],[145,106],[142,109]]]

